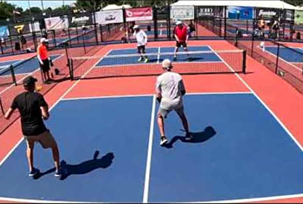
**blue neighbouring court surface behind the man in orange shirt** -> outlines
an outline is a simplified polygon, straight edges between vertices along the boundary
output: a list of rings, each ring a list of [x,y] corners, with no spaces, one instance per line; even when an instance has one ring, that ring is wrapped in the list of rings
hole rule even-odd
[[[61,55],[51,55],[50,58],[52,60],[55,60],[56,58],[60,57]],[[24,62],[25,61],[25,62]],[[22,63],[24,62],[24,63]],[[12,60],[12,61],[3,61],[0,62],[0,73],[5,72],[9,69],[10,65],[14,65],[14,73],[15,74],[29,74],[35,71],[36,69],[39,69],[39,60],[37,57],[27,60],[21,59],[21,60]],[[18,65],[20,64],[20,65]],[[11,75],[10,72],[4,74],[5,75]]]

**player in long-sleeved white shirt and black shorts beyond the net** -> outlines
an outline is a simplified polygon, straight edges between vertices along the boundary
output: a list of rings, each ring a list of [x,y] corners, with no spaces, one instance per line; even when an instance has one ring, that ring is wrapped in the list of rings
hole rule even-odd
[[[147,35],[146,33],[139,28],[139,25],[134,26],[134,36],[136,36],[137,39],[137,47],[138,47],[138,53],[141,54],[138,61],[142,61],[144,58],[144,62],[148,62],[148,57],[145,56],[145,46],[147,44]]]

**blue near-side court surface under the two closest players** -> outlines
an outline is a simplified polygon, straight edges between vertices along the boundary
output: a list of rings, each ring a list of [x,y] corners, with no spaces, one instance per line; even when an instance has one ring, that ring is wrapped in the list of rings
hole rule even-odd
[[[185,96],[194,139],[184,141],[171,112],[166,147],[159,145],[154,102],[153,96],[61,100],[46,124],[68,173],[55,178],[50,150],[36,145],[42,174],[28,177],[23,141],[0,167],[0,197],[194,202],[303,192],[303,153],[253,94]]]

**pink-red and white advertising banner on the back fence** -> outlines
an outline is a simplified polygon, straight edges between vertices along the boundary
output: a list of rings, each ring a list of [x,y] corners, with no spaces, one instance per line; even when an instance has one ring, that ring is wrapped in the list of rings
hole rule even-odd
[[[151,7],[125,9],[125,17],[126,21],[153,20],[153,9]]]

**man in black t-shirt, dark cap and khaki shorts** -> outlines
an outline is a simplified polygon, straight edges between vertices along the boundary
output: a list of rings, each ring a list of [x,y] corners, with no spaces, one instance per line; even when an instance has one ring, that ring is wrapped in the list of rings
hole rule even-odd
[[[9,110],[5,114],[7,120],[10,119],[13,111],[18,109],[21,115],[22,133],[27,143],[27,159],[29,164],[29,176],[34,176],[39,172],[33,166],[34,143],[38,142],[43,148],[51,148],[55,164],[55,176],[61,176],[59,167],[59,149],[50,131],[46,128],[43,120],[49,118],[48,104],[40,93],[35,92],[35,82],[37,80],[31,76],[23,80],[25,92],[17,95]]]

